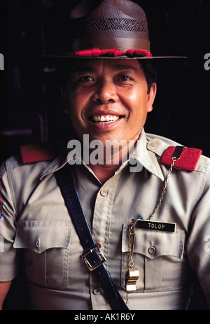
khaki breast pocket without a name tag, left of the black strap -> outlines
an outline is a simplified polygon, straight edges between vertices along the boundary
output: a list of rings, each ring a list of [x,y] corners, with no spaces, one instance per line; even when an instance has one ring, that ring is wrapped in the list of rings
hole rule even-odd
[[[68,275],[70,223],[59,221],[20,221],[14,248],[24,254],[25,272],[31,283],[60,289]]]

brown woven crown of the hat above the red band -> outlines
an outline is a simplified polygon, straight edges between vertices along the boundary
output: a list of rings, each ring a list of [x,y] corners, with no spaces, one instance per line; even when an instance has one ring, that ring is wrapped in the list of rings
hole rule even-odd
[[[73,51],[150,48],[146,14],[131,0],[83,0],[71,10],[70,17]]]

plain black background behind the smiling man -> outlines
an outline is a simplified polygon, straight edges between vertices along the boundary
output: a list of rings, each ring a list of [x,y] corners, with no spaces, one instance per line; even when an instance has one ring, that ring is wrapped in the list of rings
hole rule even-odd
[[[158,95],[146,132],[197,147],[210,157],[209,0],[139,0],[146,11],[153,55],[188,60],[158,62]],[[62,50],[63,15],[78,0],[1,0],[0,162],[27,143],[58,141],[70,132],[55,66],[32,59]],[[210,64],[209,64],[210,65]],[[195,306],[196,305],[196,306]],[[203,307],[202,297],[194,307]]]

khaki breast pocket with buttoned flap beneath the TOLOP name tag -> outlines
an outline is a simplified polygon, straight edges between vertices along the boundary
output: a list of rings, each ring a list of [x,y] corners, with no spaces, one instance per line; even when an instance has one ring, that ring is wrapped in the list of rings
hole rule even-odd
[[[128,227],[123,225],[121,285],[125,289]],[[155,292],[181,288],[185,233],[137,230],[134,245],[134,267],[139,269],[137,292]],[[185,271],[185,270],[184,270]]]

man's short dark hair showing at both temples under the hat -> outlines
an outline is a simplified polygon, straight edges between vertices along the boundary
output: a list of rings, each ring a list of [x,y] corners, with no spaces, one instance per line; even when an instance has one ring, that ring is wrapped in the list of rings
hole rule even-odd
[[[69,75],[71,73],[71,69],[73,68],[73,59],[70,62],[64,62],[59,66],[59,69],[57,70],[58,78],[60,80],[60,84],[63,88],[63,90],[66,90],[66,84],[69,79]],[[144,69],[144,75],[146,77],[146,82],[148,85],[148,93],[151,91],[151,85],[153,83],[157,83],[158,75],[155,69],[153,68],[151,62],[149,62],[148,59],[139,59],[139,62],[143,66]]]

